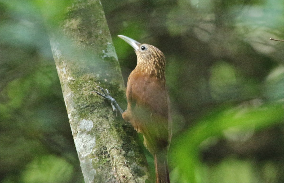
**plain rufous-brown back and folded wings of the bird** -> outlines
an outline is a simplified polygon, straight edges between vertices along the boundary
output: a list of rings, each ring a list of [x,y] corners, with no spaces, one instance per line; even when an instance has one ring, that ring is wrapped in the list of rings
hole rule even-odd
[[[128,80],[129,120],[146,138],[149,151],[162,150],[169,140],[169,100],[164,84],[155,77],[132,75]],[[159,150],[159,151],[160,151]]]

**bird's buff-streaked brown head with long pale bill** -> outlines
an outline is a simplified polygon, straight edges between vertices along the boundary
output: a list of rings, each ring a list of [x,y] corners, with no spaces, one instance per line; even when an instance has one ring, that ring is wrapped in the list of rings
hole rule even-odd
[[[136,69],[146,75],[154,75],[157,78],[164,79],[166,59],[163,52],[150,44],[141,44],[127,36],[118,35],[118,37],[134,48],[137,55]]]

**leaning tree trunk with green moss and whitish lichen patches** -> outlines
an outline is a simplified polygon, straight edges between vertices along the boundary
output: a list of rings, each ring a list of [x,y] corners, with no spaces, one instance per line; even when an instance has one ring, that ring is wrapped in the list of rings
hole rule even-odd
[[[126,109],[125,87],[100,1],[74,1],[51,49],[85,182],[145,182],[147,163],[137,133],[92,93],[107,88]]]

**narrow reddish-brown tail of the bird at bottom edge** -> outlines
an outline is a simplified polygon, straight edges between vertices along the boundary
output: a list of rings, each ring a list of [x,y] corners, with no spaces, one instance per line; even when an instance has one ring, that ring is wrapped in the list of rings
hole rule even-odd
[[[167,156],[154,154],[154,163],[156,169],[156,183],[170,182]]]

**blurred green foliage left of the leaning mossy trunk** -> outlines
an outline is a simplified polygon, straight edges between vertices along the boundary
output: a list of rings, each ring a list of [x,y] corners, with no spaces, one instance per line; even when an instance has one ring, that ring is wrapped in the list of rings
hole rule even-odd
[[[83,182],[40,3],[0,2],[1,182]]]

